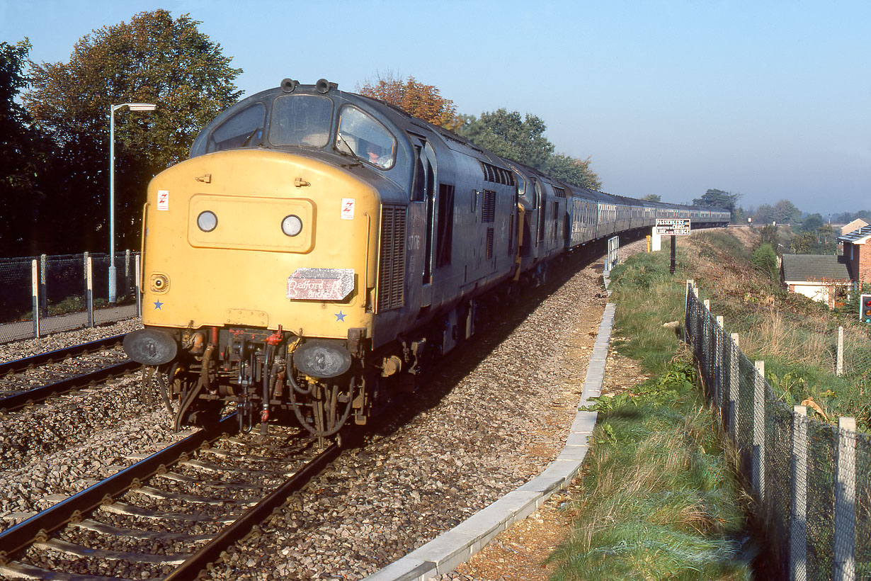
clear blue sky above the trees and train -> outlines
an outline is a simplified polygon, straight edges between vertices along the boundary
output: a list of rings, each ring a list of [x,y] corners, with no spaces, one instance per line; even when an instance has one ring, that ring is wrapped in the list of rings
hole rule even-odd
[[[606,192],[871,208],[866,0],[0,0],[0,41],[67,62],[91,30],[157,8],[200,21],[246,95],[285,77],[353,91],[413,75],[460,112],[544,119]]]

